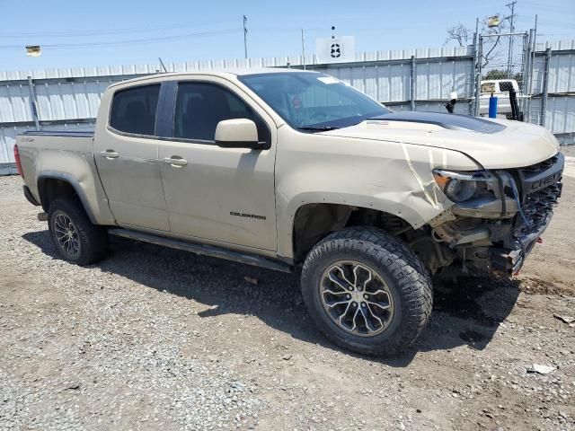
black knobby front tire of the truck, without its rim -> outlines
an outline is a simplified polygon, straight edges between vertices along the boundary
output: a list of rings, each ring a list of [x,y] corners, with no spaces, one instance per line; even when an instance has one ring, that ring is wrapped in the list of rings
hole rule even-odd
[[[334,262],[354,260],[373,268],[393,295],[394,317],[381,333],[361,337],[341,329],[323,308],[321,281]],[[421,259],[401,240],[374,227],[351,227],[318,242],[301,277],[305,305],[333,343],[369,356],[396,356],[420,336],[429,321],[432,286]]]

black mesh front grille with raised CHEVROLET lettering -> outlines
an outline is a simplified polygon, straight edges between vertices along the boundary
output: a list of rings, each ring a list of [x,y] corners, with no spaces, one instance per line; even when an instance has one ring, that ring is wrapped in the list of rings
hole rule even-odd
[[[523,215],[516,216],[516,237],[539,231],[561,197],[564,156],[561,153],[541,163],[517,170]]]

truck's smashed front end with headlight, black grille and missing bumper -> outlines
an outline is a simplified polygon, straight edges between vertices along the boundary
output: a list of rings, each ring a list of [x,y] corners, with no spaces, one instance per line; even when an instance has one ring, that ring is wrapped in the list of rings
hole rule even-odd
[[[429,221],[430,242],[417,235],[411,246],[432,272],[459,262],[464,271],[517,274],[551,221],[563,165],[558,153],[517,169],[434,170],[439,189],[454,205]]]

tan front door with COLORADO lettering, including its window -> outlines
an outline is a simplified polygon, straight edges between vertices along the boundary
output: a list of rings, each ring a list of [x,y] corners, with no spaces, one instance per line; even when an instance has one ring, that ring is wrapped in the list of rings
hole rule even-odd
[[[217,77],[173,81],[172,106],[172,138],[159,144],[171,232],[276,251],[272,120],[240,89]],[[270,148],[217,146],[217,123],[224,119],[252,119]]]

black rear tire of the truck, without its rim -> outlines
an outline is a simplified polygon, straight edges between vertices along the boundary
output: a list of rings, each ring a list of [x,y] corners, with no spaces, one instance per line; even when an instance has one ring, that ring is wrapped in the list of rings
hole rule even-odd
[[[74,224],[79,242],[79,252],[76,256],[66,254],[66,251],[58,243],[55,225],[58,215],[67,216]],[[78,198],[54,199],[49,206],[48,227],[52,243],[62,259],[84,266],[99,262],[106,257],[108,232],[106,228],[92,224]]]

